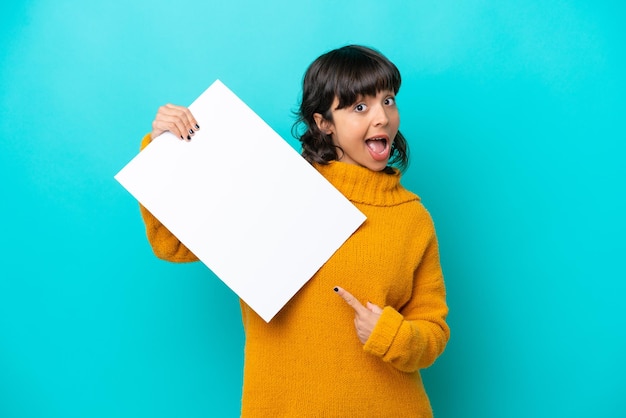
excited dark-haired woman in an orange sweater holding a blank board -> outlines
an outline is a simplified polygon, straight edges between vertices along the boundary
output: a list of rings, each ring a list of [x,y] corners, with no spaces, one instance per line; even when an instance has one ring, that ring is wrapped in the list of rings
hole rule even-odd
[[[355,45],[306,71],[294,126],[302,155],[367,220],[270,323],[241,302],[244,417],[432,416],[419,370],[448,342],[448,307],[432,219],[400,184],[400,81],[387,58]],[[188,109],[166,105],[142,146],[164,131],[191,140],[199,128]],[[157,256],[197,260],[141,210]]]

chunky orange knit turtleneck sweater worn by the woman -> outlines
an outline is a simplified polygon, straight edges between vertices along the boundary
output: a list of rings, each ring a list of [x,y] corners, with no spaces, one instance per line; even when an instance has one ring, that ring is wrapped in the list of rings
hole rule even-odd
[[[450,336],[431,217],[399,174],[340,162],[316,168],[367,220],[269,324],[241,303],[242,416],[431,417],[419,369],[435,361]],[[197,260],[141,211],[157,256]],[[365,345],[335,286],[384,307]]]

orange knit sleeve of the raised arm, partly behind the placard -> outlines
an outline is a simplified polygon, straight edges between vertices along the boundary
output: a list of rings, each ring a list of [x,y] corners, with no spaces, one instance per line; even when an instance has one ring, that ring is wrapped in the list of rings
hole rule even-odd
[[[149,143],[150,134],[146,135],[141,141],[141,149],[143,150]],[[180,242],[148,209],[140,204],[139,210],[146,225],[148,242],[157,257],[177,263],[198,261],[198,257]]]

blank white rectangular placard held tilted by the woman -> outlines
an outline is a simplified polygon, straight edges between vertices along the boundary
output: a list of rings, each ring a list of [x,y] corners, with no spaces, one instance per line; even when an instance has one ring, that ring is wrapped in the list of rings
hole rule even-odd
[[[189,109],[115,179],[269,322],[365,216],[219,80]]]

